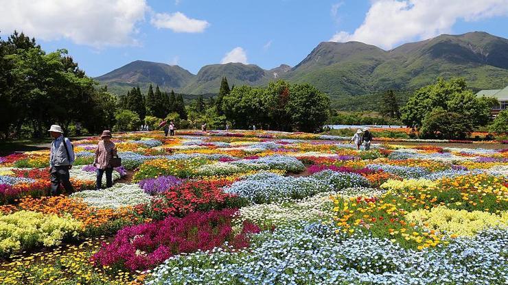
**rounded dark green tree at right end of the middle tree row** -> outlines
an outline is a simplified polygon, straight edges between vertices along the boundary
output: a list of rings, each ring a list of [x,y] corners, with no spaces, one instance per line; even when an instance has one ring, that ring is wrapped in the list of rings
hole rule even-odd
[[[294,84],[289,92],[286,111],[291,114],[292,125],[303,132],[322,127],[328,118],[330,98],[310,84]]]

